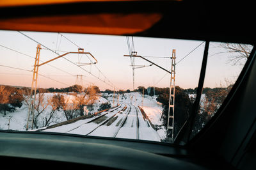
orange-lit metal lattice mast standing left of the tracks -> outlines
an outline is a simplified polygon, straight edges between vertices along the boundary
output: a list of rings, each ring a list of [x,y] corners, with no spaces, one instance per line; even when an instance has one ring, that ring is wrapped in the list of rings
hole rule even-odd
[[[31,124],[32,125],[31,125],[31,128],[33,129],[33,120],[34,120],[34,113],[35,113],[36,86],[37,86],[37,79],[38,79],[38,67],[39,67],[38,64],[39,64],[39,57],[40,57],[40,49],[41,49],[41,45],[38,44],[37,47],[36,47],[36,58],[35,58],[35,64],[34,64],[34,69],[33,69],[31,93],[30,93],[30,98],[29,98],[28,122],[27,122],[26,130],[28,130],[28,124],[29,124],[30,115],[32,115],[32,120],[31,120],[31,122],[32,122]]]

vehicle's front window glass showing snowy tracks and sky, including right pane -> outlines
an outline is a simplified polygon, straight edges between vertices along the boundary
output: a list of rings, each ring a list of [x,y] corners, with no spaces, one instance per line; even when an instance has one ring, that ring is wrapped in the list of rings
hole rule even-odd
[[[0,129],[173,143],[196,100],[205,42],[0,31]],[[192,137],[251,45],[210,42]]]

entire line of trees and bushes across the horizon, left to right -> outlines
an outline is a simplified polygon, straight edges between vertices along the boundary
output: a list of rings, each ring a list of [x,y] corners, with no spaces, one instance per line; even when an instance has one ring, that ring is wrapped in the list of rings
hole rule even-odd
[[[218,110],[222,104],[225,97],[227,97],[228,92],[232,88],[232,85],[227,88],[204,88],[203,93],[205,94],[205,100],[200,102],[200,111],[196,115],[195,127],[193,132],[198,132],[212,115]],[[197,88],[183,89],[179,86],[175,87],[175,125],[174,125],[174,134],[176,135],[188,116],[190,114],[191,108],[195,98],[189,97],[189,94],[195,94]],[[157,102],[163,104],[163,119],[166,126],[168,118],[168,104],[169,104],[169,88],[157,88],[149,87],[145,88],[139,86],[134,91],[127,89],[126,91],[120,90],[115,93],[129,93],[129,92],[139,92],[144,95],[157,95]],[[57,92],[51,98],[45,97],[45,93]],[[88,88],[83,89],[82,86],[77,84],[67,87],[67,88],[40,88],[37,90],[37,100],[35,104],[35,117],[34,125],[35,127],[47,126],[50,123],[54,122],[53,115],[56,111],[63,111],[65,118],[70,120],[77,116],[83,115],[84,106],[87,106],[90,109],[90,105],[95,102],[96,98],[99,96],[99,93],[113,93],[110,89],[105,91],[100,91],[97,86],[89,86]],[[0,111],[6,114],[6,111],[13,112],[15,108],[21,107],[22,104],[29,105],[31,89],[30,88],[15,88],[12,86],[0,86]],[[66,98],[61,93],[69,93],[73,95],[73,99]],[[42,117],[46,108],[51,108],[47,116]],[[100,105],[100,109],[108,109],[111,107],[110,104]],[[100,110],[99,109],[99,110]],[[43,120],[43,121],[40,121]]]

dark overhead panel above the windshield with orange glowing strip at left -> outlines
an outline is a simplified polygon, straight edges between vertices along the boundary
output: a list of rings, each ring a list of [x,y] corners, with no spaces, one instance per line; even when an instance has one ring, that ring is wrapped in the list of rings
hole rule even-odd
[[[236,2],[54,2],[0,4],[0,29],[255,43],[253,11]]]

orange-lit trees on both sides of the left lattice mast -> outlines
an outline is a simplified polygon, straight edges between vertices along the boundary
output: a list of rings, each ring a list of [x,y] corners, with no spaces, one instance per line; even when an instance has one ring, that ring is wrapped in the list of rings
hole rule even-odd
[[[46,95],[49,92],[57,92],[54,95]],[[68,93],[68,97],[65,94]],[[17,107],[22,105],[29,106],[31,95],[30,88],[15,88],[13,86],[0,86],[0,112],[6,115],[6,112],[14,112]],[[33,127],[40,128],[50,125],[56,120],[56,111],[63,111],[67,120],[76,118],[84,114],[84,106],[91,109],[95,100],[100,95],[100,89],[97,86],[88,86],[83,89],[82,86],[74,85],[61,89],[39,88],[36,91],[35,114],[33,116]],[[111,107],[109,104],[100,105],[100,109]]]

